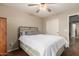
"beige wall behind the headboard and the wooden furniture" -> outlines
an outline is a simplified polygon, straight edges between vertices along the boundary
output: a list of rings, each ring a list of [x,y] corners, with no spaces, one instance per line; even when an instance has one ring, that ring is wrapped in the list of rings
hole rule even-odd
[[[17,48],[17,32],[19,26],[38,27],[42,32],[42,20],[36,16],[24,13],[16,8],[0,5],[0,17],[7,18],[7,48]],[[13,46],[10,46],[13,44]]]

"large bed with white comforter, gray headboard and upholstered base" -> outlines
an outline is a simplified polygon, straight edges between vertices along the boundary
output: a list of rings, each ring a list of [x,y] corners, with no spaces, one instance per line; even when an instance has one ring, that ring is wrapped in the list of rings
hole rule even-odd
[[[19,27],[20,48],[30,56],[60,56],[66,40],[61,36],[38,32],[37,27]]]

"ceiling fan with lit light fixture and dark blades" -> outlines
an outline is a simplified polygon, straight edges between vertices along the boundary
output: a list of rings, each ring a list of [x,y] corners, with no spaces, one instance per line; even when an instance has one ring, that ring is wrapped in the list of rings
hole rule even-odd
[[[55,4],[55,3],[28,4],[28,6],[37,7],[36,13],[38,13],[40,10],[47,10],[48,12],[51,12],[52,10],[48,8],[48,4]]]

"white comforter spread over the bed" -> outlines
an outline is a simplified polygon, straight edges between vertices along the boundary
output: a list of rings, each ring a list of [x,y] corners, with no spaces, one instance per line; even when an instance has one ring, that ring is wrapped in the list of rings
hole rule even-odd
[[[40,56],[55,56],[58,50],[66,44],[63,37],[53,35],[23,35],[20,41],[40,53]]]

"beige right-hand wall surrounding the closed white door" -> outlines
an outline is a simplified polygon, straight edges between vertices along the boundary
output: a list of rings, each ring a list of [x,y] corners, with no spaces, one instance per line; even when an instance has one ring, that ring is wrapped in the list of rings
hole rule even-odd
[[[53,34],[53,30],[56,27],[56,26],[52,26],[53,21],[55,19],[58,19],[59,20],[59,35],[65,37],[65,39],[69,42],[69,16],[74,15],[74,14],[79,14],[79,8],[70,9],[70,10],[67,10],[63,13],[57,14],[55,16],[52,15],[50,17],[45,18],[43,20],[44,21],[43,31],[46,33],[50,32],[50,34]],[[48,22],[49,22],[49,24],[47,24]],[[51,27],[49,25],[51,25]]]

